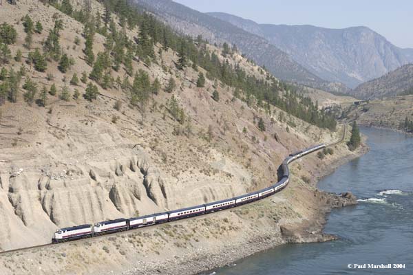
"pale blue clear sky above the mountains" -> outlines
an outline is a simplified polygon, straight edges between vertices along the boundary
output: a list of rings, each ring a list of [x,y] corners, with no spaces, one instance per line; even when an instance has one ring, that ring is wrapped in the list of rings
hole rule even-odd
[[[398,47],[413,48],[412,0],[173,0],[200,12],[227,12],[257,23],[366,26]]]

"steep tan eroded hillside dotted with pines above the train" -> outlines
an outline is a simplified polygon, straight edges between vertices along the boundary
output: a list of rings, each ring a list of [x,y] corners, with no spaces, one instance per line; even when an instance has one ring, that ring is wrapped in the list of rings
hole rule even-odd
[[[109,14],[114,21],[105,28],[92,15],[105,14],[103,5],[90,3],[90,8],[73,3],[84,24],[37,1],[3,3],[0,9],[3,22],[17,31],[0,68],[6,70],[0,80],[0,250],[49,243],[56,228],[256,190],[277,178],[288,153],[338,135],[288,113],[303,106],[297,98],[286,111],[272,104],[264,109],[253,95],[246,98],[218,78],[196,87],[200,72],[208,72],[191,61],[178,68],[182,58],[171,48],[153,43],[147,47],[153,56],[139,56],[150,43],[136,41],[144,41],[141,26],[151,19],[129,14],[141,25],[120,28],[122,20]],[[28,31],[31,41],[26,15],[43,25]],[[92,43],[91,29],[98,30]],[[117,70],[119,48],[111,39],[125,42]],[[93,66],[86,62],[91,44]],[[56,52],[50,45],[57,45]],[[215,54],[226,75],[237,65],[240,74],[256,79],[255,88],[268,81],[270,96],[278,101],[286,96],[279,88],[286,85],[240,54],[224,58],[217,47],[197,47]],[[75,81],[74,74],[85,78]],[[313,107],[306,103],[306,108]]]

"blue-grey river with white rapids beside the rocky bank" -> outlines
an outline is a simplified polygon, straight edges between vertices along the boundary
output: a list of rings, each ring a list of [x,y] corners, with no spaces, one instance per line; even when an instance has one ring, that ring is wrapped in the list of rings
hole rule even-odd
[[[357,206],[333,210],[328,217],[324,231],[339,236],[338,241],[282,245],[212,273],[413,274],[413,138],[381,129],[361,131],[370,152],[318,185],[330,192],[350,190],[359,198]],[[402,265],[354,268],[369,263]]]

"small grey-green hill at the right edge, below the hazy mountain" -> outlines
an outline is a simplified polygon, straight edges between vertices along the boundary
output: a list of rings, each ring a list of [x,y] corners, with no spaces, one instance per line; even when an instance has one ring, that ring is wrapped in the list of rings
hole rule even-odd
[[[413,87],[413,64],[408,64],[385,76],[363,83],[350,93],[354,97],[372,99],[396,96],[411,87]]]

